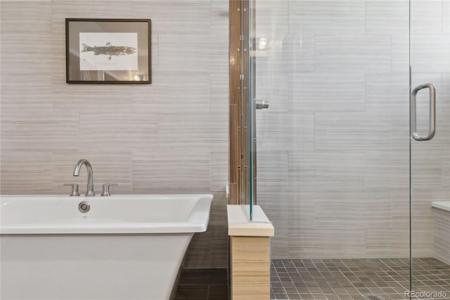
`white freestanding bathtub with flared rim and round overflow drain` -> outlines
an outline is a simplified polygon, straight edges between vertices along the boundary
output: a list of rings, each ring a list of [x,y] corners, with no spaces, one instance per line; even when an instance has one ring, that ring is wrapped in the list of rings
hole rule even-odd
[[[79,211],[81,201],[89,212]],[[207,228],[211,201],[2,195],[0,299],[167,300],[193,233]]]

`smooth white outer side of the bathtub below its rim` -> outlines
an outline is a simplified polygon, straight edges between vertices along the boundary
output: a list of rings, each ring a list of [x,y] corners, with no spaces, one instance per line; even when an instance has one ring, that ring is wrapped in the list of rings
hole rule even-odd
[[[192,234],[1,235],[1,299],[169,299]]]

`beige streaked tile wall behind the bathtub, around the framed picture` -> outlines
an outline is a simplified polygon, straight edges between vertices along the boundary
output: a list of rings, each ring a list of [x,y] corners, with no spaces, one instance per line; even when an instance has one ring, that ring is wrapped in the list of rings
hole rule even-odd
[[[226,268],[227,0],[1,1],[1,193],[212,193],[187,267]],[[152,19],[151,85],[67,85],[65,18]]]

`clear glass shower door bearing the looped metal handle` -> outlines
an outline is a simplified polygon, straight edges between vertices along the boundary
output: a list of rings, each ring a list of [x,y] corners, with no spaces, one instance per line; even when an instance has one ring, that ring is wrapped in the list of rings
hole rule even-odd
[[[410,1],[411,299],[450,298],[449,3]]]

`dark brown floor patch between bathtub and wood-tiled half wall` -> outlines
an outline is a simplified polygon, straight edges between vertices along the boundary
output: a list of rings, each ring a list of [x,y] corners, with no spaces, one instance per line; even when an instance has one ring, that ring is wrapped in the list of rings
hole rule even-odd
[[[226,269],[184,269],[176,300],[228,300]]]

